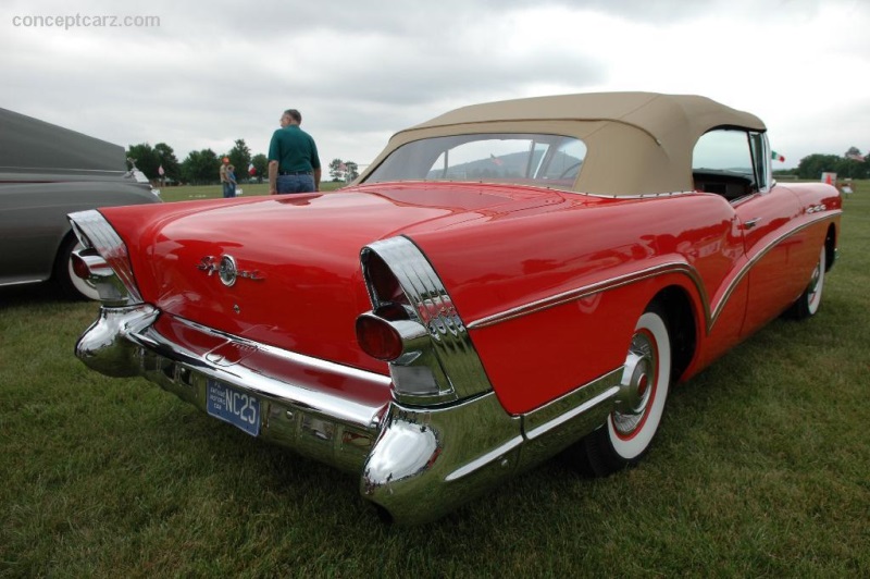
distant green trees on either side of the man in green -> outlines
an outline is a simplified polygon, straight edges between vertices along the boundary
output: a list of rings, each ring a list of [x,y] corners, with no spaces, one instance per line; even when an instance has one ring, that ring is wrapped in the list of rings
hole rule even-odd
[[[244,138],[236,139],[229,151],[217,155],[212,149],[190,151],[184,161],[178,161],[175,151],[165,143],[153,147],[148,143],[130,145],[127,149],[127,168],[145,173],[151,181],[174,184],[212,185],[220,181],[219,171],[224,157],[236,169],[236,178],[263,181],[269,176],[269,159],[263,153],[251,155]],[[162,169],[162,173],[161,173]],[[327,168],[333,181],[351,181],[359,175],[357,163],[333,159]]]

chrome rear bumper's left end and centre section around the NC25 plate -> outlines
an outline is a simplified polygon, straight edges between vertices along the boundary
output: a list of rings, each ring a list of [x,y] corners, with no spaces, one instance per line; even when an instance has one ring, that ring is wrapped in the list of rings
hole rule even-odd
[[[182,344],[158,332],[157,318],[150,306],[103,307],[76,344],[76,356],[107,375],[145,377],[203,412],[210,379],[248,392],[261,402],[260,438],[341,470],[362,470],[389,402],[388,377],[174,319],[176,336],[189,341]],[[319,380],[370,395],[339,397]]]

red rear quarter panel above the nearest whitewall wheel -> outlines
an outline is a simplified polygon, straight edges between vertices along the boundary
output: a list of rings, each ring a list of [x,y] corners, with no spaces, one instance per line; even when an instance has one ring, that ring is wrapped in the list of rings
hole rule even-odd
[[[684,291],[703,332],[711,296],[724,298],[719,290],[744,258],[736,215],[720,197],[566,197],[558,211],[413,236],[511,414],[619,368],[663,287]],[[720,325],[728,338],[739,331],[737,304],[731,327]]]

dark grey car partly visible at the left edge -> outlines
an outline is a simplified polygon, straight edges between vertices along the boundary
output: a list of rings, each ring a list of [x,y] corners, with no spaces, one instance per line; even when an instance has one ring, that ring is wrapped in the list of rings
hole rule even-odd
[[[159,202],[123,147],[0,109],[0,286],[52,279],[72,298],[97,291],[72,273],[72,211]]]

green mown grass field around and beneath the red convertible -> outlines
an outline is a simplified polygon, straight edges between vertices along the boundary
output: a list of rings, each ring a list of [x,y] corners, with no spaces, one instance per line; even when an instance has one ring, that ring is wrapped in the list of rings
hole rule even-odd
[[[220,193],[164,192],[184,195]],[[382,525],[355,477],[87,370],[97,305],[4,290],[0,576],[868,577],[868,288],[862,182],[819,315],[675,389],[639,468],[554,460],[417,528]]]

